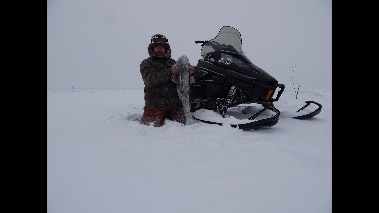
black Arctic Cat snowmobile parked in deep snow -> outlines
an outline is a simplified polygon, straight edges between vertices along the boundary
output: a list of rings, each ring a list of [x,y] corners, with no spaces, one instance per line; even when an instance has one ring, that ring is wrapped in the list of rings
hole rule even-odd
[[[195,83],[189,85],[189,103],[195,119],[209,124],[226,124],[223,122],[226,120],[210,120],[207,119],[209,116],[199,113],[208,110],[220,118],[233,116],[239,121],[235,119],[227,124],[240,129],[277,124],[280,111],[273,102],[279,100],[285,86],[244,55],[240,31],[224,26],[214,39],[195,43],[202,44],[200,54],[204,58],[195,66]],[[228,111],[228,108],[238,108],[247,103],[257,103],[263,108],[254,113]],[[305,103],[298,112],[310,104],[316,104],[318,108],[293,118],[305,119],[320,113],[321,104],[314,101]],[[269,116],[264,116],[266,110],[269,110]]]

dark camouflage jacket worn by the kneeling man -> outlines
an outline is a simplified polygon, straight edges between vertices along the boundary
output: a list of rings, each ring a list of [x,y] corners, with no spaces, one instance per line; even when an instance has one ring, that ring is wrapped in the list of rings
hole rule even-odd
[[[174,108],[182,106],[176,84],[172,82],[170,67],[176,61],[172,58],[158,60],[149,57],[139,65],[145,83],[145,108],[149,106]]]

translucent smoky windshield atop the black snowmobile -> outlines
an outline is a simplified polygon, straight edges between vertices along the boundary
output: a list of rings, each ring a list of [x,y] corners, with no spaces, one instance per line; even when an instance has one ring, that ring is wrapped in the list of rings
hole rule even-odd
[[[205,58],[207,55],[221,50],[244,55],[240,31],[229,26],[222,27],[216,38],[205,42],[200,54]]]

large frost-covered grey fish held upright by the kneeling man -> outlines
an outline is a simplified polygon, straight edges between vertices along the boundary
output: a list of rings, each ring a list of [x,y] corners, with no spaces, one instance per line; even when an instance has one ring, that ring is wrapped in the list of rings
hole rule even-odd
[[[177,73],[172,77],[172,81],[176,83],[176,90],[178,91],[179,99],[182,102],[184,114],[186,117],[186,123],[191,124],[193,122],[193,117],[191,113],[191,105],[189,104],[189,85],[195,82],[193,76],[189,76],[188,69],[189,60],[186,55],[179,56],[176,64],[174,65]]]

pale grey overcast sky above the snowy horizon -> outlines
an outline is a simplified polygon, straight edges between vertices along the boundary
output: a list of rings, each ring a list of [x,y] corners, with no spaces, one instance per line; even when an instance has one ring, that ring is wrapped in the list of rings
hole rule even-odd
[[[47,88],[143,88],[139,64],[153,34],[196,66],[222,26],[279,83],[332,87],[331,0],[48,0]],[[290,71],[292,75],[292,71]]]

